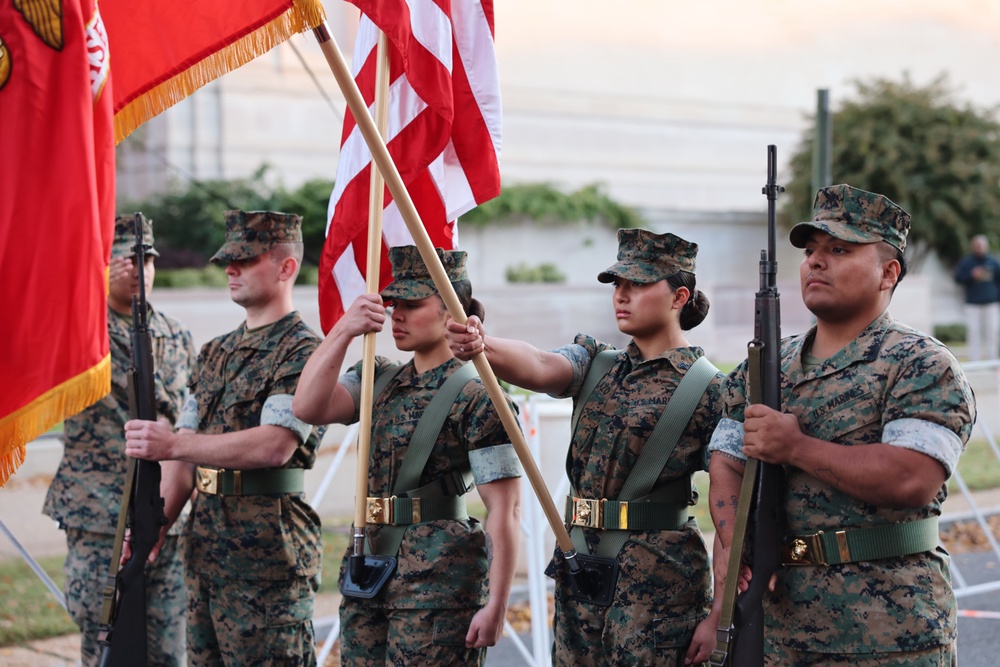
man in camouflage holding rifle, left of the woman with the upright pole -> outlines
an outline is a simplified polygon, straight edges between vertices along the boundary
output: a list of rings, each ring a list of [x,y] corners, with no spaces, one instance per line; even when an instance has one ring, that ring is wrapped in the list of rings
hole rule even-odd
[[[212,261],[227,264],[233,299],[247,309],[247,321],[202,348],[179,434],[160,432],[151,422],[128,425],[130,451],[187,462],[178,468],[185,474],[174,479],[183,484],[171,497],[190,493],[191,464],[199,465],[184,533],[192,667],[316,664],[320,519],[301,481],[297,490],[278,481],[287,471],[312,467],[322,435],[291,412],[299,374],[319,344],[291,309],[300,225],[298,216],[284,213],[226,213],[226,243]],[[263,297],[279,280],[280,296]],[[284,313],[278,319],[275,303]],[[291,443],[277,450],[285,457],[280,463],[270,451],[279,439]],[[170,499],[167,505],[169,516]]]

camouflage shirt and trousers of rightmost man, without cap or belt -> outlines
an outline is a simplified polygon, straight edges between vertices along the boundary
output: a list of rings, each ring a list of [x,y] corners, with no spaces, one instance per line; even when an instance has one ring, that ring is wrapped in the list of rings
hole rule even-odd
[[[782,343],[782,410],[802,431],[845,447],[907,439],[920,420],[968,441],[975,418],[972,390],[939,342],[883,314],[850,345],[812,372],[802,353],[815,330]],[[712,443],[742,457],[746,366],[725,383],[725,417]],[[927,445],[933,431],[927,433]],[[946,436],[942,437],[947,440]],[[922,451],[921,441],[909,445]],[[939,458],[936,449],[924,453]],[[886,471],[891,474],[891,471]],[[951,472],[950,470],[948,471]],[[919,509],[876,507],[785,466],[788,534],[835,532],[940,516],[942,485]],[[789,566],[765,596],[769,642],[816,653],[919,651],[955,641],[957,605],[949,556],[935,551],[827,567]],[[777,664],[777,663],[775,663]]]

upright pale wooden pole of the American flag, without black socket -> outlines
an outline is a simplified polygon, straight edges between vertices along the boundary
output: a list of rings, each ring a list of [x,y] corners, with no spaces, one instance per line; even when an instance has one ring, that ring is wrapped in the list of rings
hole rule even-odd
[[[375,70],[375,124],[380,137],[386,134],[389,118],[389,49],[385,33],[379,30]],[[365,117],[368,117],[365,109]],[[378,169],[372,169],[368,196],[368,259],[365,293],[378,294],[379,269],[382,263],[383,180]],[[361,357],[361,418],[358,427],[358,469],[354,498],[354,555],[364,556],[366,509],[368,501],[368,463],[371,452],[372,403],[375,387],[375,332],[363,338]]]

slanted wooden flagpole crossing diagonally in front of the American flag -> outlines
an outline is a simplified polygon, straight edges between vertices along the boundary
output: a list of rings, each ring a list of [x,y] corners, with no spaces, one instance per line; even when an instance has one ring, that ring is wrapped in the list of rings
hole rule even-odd
[[[406,191],[403,179],[400,177],[399,171],[396,169],[396,165],[389,155],[385,141],[379,134],[378,128],[376,128],[375,122],[368,112],[368,106],[365,104],[364,98],[361,96],[361,91],[358,90],[358,86],[351,76],[351,71],[344,61],[344,56],[340,52],[340,48],[330,35],[330,31],[325,23],[313,30],[313,34],[316,36],[316,41],[319,42],[320,48],[323,50],[323,55],[326,56],[326,61],[333,72],[334,78],[337,79],[337,84],[344,94],[348,108],[354,115],[354,120],[358,124],[361,136],[364,137],[365,143],[368,144],[372,158],[382,177],[385,179],[386,186],[389,188],[389,192],[392,193],[396,205],[399,207],[399,212],[406,223],[410,235],[413,237],[414,243],[420,252],[420,257],[427,264],[431,277],[434,279],[434,285],[444,300],[445,306],[448,308],[448,313],[456,322],[464,323],[468,318],[465,316],[462,304],[458,300],[458,295],[455,294],[455,289],[448,280],[448,275],[441,264],[441,259],[434,251],[434,245],[431,243],[430,237],[427,235],[427,230],[424,229],[424,225],[420,220],[420,215],[413,205],[413,200],[410,199],[410,194]],[[585,589],[590,588],[591,583],[587,581],[589,574],[584,571],[584,567],[581,565],[581,560],[577,556],[576,549],[573,547],[573,541],[570,539],[569,533],[566,532],[566,527],[562,523],[559,511],[556,509],[555,503],[552,501],[552,496],[545,486],[545,480],[542,479],[542,474],[538,470],[535,460],[531,457],[531,452],[528,450],[528,445],[518,426],[517,418],[507,404],[503,390],[497,382],[496,375],[494,375],[493,369],[486,360],[486,355],[480,352],[473,357],[472,362],[476,365],[479,377],[486,387],[486,391],[493,401],[497,413],[500,415],[500,420],[503,422],[504,429],[507,431],[511,443],[514,445],[514,451],[521,460],[521,465],[524,466],[524,472],[528,477],[528,481],[531,482],[531,488],[534,489],[535,496],[538,497],[539,502],[542,504],[545,518],[549,522],[552,532],[555,533],[556,543],[563,552],[563,557],[566,559],[566,565],[569,568],[570,574],[581,584],[581,587]]]

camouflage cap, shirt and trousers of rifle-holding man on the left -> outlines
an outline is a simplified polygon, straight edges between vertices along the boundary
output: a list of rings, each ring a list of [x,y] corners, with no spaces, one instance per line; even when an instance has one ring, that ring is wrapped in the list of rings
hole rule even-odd
[[[301,240],[298,216],[228,211],[216,262]],[[267,260],[265,260],[267,261]],[[272,424],[298,433],[284,468],[311,468],[323,428],[291,412],[299,375],[319,337],[297,312],[235,331],[201,349],[179,427],[215,435]],[[188,664],[316,664],[313,604],[322,558],[320,519],[303,493],[199,492],[184,532]]]

